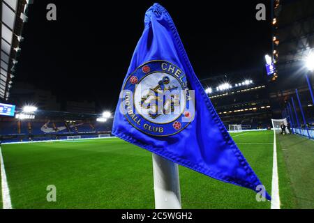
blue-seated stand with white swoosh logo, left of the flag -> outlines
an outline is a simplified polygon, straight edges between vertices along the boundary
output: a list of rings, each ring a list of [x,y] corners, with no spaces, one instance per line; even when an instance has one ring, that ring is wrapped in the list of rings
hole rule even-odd
[[[48,116],[40,114],[33,120],[17,118],[0,118],[0,140],[13,141],[42,141],[67,139],[68,136],[80,135],[80,138],[98,137],[98,134],[109,134],[112,121],[97,122],[95,116],[77,117],[75,114]],[[48,112],[49,113],[49,112]]]

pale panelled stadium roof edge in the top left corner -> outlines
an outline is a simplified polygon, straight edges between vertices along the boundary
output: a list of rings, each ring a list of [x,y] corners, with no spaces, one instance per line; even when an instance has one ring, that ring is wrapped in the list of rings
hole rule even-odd
[[[24,22],[27,22],[27,8],[31,0],[1,0],[1,54],[0,54],[0,99],[8,100],[15,72],[17,56]]]

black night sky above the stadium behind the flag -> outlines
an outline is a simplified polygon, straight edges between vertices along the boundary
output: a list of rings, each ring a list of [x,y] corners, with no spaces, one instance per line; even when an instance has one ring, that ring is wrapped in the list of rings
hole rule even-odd
[[[269,10],[269,1],[158,2],[172,16],[200,79],[262,66],[270,52],[269,17],[255,20],[256,4]],[[46,20],[47,3],[57,5],[56,22]],[[153,3],[36,0],[14,82],[50,89],[60,101],[94,100],[100,110],[114,109]]]

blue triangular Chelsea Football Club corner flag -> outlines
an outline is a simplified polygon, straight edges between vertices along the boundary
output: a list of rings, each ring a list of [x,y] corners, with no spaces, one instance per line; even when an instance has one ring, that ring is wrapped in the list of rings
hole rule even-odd
[[[262,185],[220,121],[172,18],[158,3],[146,12],[112,134],[211,178],[255,192]],[[267,192],[264,196],[271,199]]]

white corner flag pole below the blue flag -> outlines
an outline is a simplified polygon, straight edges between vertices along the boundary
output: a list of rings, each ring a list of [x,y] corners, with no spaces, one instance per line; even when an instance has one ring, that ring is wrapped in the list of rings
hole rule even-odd
[[[181,209],[178,164],[153,153],[156,209]]]

